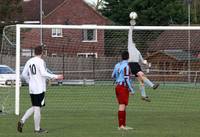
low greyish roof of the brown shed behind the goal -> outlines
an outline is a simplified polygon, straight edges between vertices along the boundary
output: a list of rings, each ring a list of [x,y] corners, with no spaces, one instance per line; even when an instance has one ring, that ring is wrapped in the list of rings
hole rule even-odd
[[[190,57],[191,61],[196,61],[196,60],[200,60],[199,58],[195,57],[192,55],[192,53],[190,54],[190,56],[188,56],[188,52],[183,51],[183,50],[161,50],[158,51],[152,55],[150,55],[148,58],[151,58],[153,56],[157,56],[157,54],[162,53],[165,54],[171,58],[174,58],[177,61],[186,61],[188,60],[188,58]]]

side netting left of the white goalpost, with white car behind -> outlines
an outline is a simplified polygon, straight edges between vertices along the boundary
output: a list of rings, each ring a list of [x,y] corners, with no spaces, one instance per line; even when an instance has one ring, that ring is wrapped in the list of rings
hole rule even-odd
[[[1,35],[0,50],[0,115],[15,110],[15,39],[16,26],[6,26]]]

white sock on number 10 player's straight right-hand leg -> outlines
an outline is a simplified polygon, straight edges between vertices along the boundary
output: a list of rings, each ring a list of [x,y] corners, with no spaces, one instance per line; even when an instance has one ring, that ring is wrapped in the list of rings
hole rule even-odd
[[[40,119],[41,119],[41,112],[40,107],[34,107],[34,123],[35,123],[35,130],[40,130]]]

